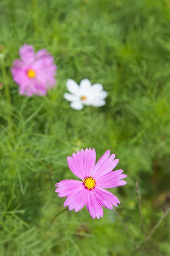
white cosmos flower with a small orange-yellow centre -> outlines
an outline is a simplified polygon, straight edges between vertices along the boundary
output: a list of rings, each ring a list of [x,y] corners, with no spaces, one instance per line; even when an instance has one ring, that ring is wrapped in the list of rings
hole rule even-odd
[[[103,90],[102,84],[93,84],[86,78],[78,85],[74,80],[68,79],[66,87],[70,93],[65,93],[64,98],[71,102],[71,108],[81,110],[83,105],[102,107],[106,104],[108,93]]]

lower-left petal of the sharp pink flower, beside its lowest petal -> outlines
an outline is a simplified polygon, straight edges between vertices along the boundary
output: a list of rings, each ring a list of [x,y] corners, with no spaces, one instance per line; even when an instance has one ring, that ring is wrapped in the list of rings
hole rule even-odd
[[[88,198],[88,189],[83,188],[74,195],[68,196],[64,202],[64,207],[68,206],[69,211],[75,209],[75,212],[81,210]]]

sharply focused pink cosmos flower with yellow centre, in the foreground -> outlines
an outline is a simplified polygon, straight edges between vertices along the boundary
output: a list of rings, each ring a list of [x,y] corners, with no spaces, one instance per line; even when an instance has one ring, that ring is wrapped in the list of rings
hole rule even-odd
[[[119,159],[110,150],[106,151],[96,163],[95,149],[82,149],[72,157],[67,157],[68,166],[80,180],[62,180],[56,184],[59,197],[67,197],[64,207],[75,212],[81,210],[85,205],[92,218],[103,217],[103,207],[113,209],[120,204],[119,199],[106,189],[123,186],[127,182],[122,180],[127,177],[121,174],[123,170],[113,171]],[[96,164],[95,164],[96,163]]]

